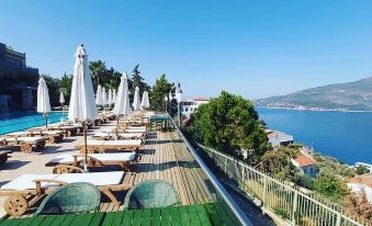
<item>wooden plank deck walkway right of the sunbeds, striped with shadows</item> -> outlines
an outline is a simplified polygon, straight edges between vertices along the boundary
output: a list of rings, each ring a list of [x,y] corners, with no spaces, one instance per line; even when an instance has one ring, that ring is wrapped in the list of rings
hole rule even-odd
[[[182,205],[215,201],[213,185],[177,132],[150,132],[139,154],[140,161],[132,167],[136,172],[134,185],[146,180],[165,180],[174,187]],[[116,195],[124,201],[125,192]],[[101,212],[121,210],[108,202],[100,207]]]

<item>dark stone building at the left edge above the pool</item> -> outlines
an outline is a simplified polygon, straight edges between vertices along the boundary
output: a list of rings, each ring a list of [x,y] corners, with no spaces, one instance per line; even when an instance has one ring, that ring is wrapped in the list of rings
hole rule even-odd
[[[0,43],[0,111],[32,109],[38,69],[26,65],[25,53]]]

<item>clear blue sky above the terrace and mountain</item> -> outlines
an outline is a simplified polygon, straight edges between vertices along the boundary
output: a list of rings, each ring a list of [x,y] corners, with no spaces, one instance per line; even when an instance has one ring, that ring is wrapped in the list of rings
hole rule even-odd
[[[257,99],[372,76],[369,0],[1,0],[0,42],[30,66],[71,72],[83,43],[89,59],[119,71],[140,64],[185,97],[227,90]]]

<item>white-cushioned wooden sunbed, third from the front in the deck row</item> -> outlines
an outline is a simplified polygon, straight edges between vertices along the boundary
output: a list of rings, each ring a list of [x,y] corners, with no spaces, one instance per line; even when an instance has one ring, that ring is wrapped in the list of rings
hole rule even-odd
[[[87,142],[88,152],[105,152],[106,150],[131,150],[135,151],[143,147],[142,139],[121,139],[121,140],[94,140]],[[84,152],[84,144],[76,147],[80,152]]]

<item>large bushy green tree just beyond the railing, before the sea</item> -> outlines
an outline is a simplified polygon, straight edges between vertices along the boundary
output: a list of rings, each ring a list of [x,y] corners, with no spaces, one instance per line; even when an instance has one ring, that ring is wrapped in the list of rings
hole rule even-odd
[[[218,98],[202,104],[185,128],[192,138],[235,157],[255,163],[268,149],[263,124],[249,100],[223,91]]]

